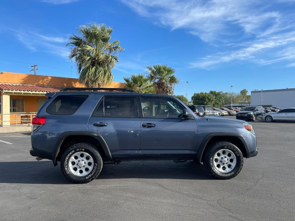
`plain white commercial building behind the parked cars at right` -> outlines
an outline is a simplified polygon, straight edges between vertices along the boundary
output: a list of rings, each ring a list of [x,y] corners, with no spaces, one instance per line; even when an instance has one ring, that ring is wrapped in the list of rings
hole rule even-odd
[[[251,91],[251,105],[272,105],[279,108],[295,107],[295,88]]]

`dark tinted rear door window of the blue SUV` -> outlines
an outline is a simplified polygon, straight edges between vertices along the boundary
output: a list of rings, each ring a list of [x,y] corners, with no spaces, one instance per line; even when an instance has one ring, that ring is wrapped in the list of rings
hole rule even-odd
[[[134,98],[130,97],[104,97],[97,106],[93,116],[105,117],[134,117]]]

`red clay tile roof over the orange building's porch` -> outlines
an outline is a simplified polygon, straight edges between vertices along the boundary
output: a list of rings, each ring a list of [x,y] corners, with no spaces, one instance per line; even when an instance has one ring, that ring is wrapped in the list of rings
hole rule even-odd
[[[58,92],[62,87],[45,85],[25,85],[25,84],[0,84],[0,90],[10,91],[33,91],[33,92]]]

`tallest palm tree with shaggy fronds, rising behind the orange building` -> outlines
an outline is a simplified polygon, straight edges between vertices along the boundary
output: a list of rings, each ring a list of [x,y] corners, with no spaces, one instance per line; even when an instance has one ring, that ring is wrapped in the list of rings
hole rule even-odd
[[[124,51],[119,40],[110,42],[113,29],[105,24],[90,23],[78,28],[66,46],[69,59],[75,59],[80,82],[86,87],[104,87],[112,83],[112,68],[118,62],[115,56]]]

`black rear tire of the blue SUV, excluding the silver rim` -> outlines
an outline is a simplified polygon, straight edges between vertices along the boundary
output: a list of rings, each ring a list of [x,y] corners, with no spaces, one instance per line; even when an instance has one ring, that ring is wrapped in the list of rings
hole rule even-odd
[[[81,177],[72,174],[71,171],[69,171],[67,165],[68,159],[70,159],[73,154],[80,151],[88,153],[92,157],[94,162],[93,169],[91,170],[91,172],[86,176]],[[68,149],[65,150],[60,160],[60,168],[63,172],[63,175],[69,181],[74,183],[88,183],[94,180],[99,175],[102,169],[102,165],[103,161],[101,158],[101,154],[93,145],[88,143],[78,143],[70,146]]]

